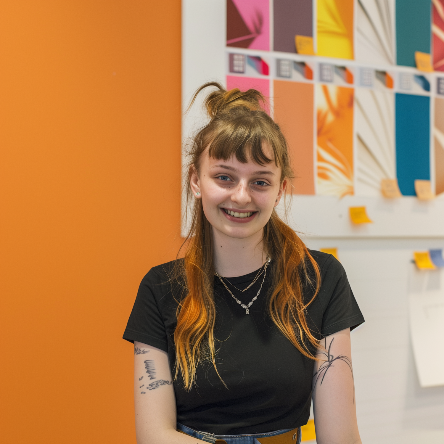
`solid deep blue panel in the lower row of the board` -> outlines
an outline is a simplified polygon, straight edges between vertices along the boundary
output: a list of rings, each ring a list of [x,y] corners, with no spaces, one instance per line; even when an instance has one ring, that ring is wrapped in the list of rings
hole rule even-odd
[[[399,189],[415,196],[415,180],[430,180],[430,97],[396,93],[395,109]]]

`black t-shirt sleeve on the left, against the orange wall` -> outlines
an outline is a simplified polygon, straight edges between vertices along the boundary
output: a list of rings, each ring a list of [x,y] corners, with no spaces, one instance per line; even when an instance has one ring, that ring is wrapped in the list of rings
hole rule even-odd
[[[165,324],[156,300],[162,287],[157,273],[151,269],[139,285],[123,339],[142,342],[168,352]]]

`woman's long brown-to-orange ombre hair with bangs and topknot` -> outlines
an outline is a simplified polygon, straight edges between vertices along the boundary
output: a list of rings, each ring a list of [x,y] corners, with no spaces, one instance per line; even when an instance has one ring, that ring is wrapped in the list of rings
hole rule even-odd
[[[293,171],[287,143],[279,126],[264,110],[264,96],[254,89],[226,91],[219,83],[209,82],[196,91],[191,104],[200,91],[210,86],[217,88],[205,100],[210,122],[192,139],[188,151],[189,174],[192,174],[193,168],[199,174],[202,154],[208,149],[208,155],[214,159],[228,160],[236,156],[242,163],[250,159],[259,165],[275,162],[281,167],[281,184],[285,179],[291,180]],[[273,159],[264,152],[264,143],[271,148]],[[194,199],[189,180],[187,210],[191,224],[183,244],[185,257],[183,261],[176,261],[171,279],[176,283],[182,282],[184,290],[178,300],[174,330],[174,378],[177,380],[180,373],[185,389],[190,390],[197,366],[203,360],[211,361],[220,375],[214,343],[213,235],[203,212],[202,199]],[[274,261],[271,275],[273,292],[268,304],[270,317],[304,356],[316,359],[313,349],[316,349],[318,341],[309,330],[305,310],[321,285],[317,263],[294,230],[279,218],[276,210],[264,227],[263,244]],[[305,302],[303,290],[307,285],[314,291],[310,301]],[[222,378],[221,381],[223,383]]]

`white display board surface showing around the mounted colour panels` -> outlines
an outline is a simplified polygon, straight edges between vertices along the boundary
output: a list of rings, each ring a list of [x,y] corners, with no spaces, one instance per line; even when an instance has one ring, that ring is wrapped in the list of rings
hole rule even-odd
[[[272,10],[270,8],[270,14]],[[225,0],[183,0],[182,1],[182,108],[185,111],[194,91],[211,80],[226,84],[228,53],[256,54],[269,60],[270,77],[275,75],[276,59],[307,60],[307,56],[259,51],[243,48],[226,48],[226,2]],[[341,63],[341,60],[309,56],[310,63]],[[343,62],[343,60],[342,60]],[[364,66],[356,60],[347,65],[355,72]],[[386,66],[369,64],[374,69]],[[419,73],[415,68],[391,66],[395,90],[400,87],[400,73]],[[316,80],[315,70],[315,80]],[[429,75],[431,91],[435,94],[434,74]],[[273,82],[270,82],[272,87]],[[272,91],[270,91],[271,94]],[[415,91],[415,94],[421,94]],[[184,143],[199,127],[206,123],[202,110],[202,98],[184,115],[182,139]],[[432,117],[432,116],[431,116]],[[356,141],[355,141],[356,144]],[[356,150],[356,147],[355,147]],[[185,158],[184,158],[185,161]],[[432,172],[433,173],[433,172]],[[355,178],[356,180],[356,178]],[[433,174],[431,181],[433,184]],[[356,189],[356,187],[355,187]],[[349,206],[366,206],[371,224],[360,226],[350,222]],[[182,208],[182,213],[185,208]],[[444,197],[433,201],[419,201],[416,197],[385,199],[372,196],[294,195],[289,223],[297,231],[313,237],[444,237]],[[186,227],[182,225],[182,234]]]

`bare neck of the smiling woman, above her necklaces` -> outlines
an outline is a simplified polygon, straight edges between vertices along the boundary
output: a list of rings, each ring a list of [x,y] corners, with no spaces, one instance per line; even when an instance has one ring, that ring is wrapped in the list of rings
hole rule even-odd
[[[214,268],[224,277],[243,276],[266,261],[262,230],[249,238],[231,238],[213,228]]]

